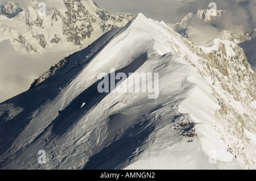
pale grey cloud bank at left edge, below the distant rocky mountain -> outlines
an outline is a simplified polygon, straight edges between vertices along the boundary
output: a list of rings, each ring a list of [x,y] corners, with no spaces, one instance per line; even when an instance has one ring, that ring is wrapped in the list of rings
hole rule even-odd
[[[0,103],[30,88],[32,81],[67,54],[31,56],[18,53],[10,40],[0,43]]]

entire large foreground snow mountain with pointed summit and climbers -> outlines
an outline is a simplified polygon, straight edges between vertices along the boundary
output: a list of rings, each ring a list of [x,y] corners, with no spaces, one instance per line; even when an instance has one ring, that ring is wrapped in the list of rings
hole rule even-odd
[[[0,104],[0,168],[255,169],[255,81],[238,45],[139,14]]]

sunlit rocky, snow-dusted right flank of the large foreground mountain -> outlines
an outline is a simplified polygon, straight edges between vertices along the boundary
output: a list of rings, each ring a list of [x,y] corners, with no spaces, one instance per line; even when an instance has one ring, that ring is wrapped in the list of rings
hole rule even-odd
[[[163,39],[173,49],[180,49],[174,41]],[[220,105],[215,112],[220,122],[213,123],[213,127],[221,134],[227,151],[241,159],[246,168],[254,167],[255,153],[250,148],[256,148],[256,143],[250,133],[256,132],[256,74],[243,49],[233,41],[220,39],[203,46],[195,46],[190,40],[185,43],[196,56],[181,51],[175,51],[176,55],[197,69]]]

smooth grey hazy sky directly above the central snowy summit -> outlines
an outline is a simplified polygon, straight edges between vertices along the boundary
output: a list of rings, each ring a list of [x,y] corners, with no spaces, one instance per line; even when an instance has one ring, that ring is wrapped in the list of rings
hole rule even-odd
[[[99,7],[110,12],[142,12],[148,18],[164,20],[166,23],[179,22],[188,12],[210,9],[209,3],[216,2],[217,9],[226,10],[236,0],[94,0]],[[254,0],[255,1],[255,0]]]

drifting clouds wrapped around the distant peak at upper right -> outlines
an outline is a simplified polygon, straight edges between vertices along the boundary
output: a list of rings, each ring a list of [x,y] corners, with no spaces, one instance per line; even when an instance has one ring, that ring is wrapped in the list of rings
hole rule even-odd
[[[190,2],[191,6],[181,6],[179,13],[197,9],[210,9],[205,7],[205,1]],[[207,3],[206,3],[207,4]],[[203,6],[204,5],[204,6]],[[221,17],[216,16],[212,24],[201,22],[193,16],[188,22],[187,34],[191,40],[201,45],[209,40],[220,38],[222,32],[227,30],[236,34],[252,33],[256,27],[256,1],[216,1],[217,10],[224,10]],[[200,7],[200,8],[199,8]]]

